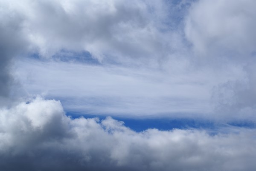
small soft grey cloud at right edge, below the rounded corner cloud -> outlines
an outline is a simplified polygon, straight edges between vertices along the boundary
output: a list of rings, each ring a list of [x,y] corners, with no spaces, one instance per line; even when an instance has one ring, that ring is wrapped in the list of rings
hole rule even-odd
[[[215,104],[215,112],[221,114],[222,118],[225,116],[239,120],[250,118],[255,121],[255,83],[255,60],[251,60],[244,66],[244,77],[213,88],[212,103]]]

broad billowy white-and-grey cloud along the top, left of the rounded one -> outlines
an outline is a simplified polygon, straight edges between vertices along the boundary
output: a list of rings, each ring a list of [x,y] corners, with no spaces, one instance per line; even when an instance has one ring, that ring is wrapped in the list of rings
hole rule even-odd
[[[1,1],[3,16],[20,16],[15,24],[30,43],[30,51],[51,57],[67,49],[89,51],[102,61],[132,63],[158,58],[160,51],[178,44],[178,34],[165,29],[164,1],[64,0]],[[169,4],[168,6],[172,6]],[[173,7],[174,8],[174,7]],[[15,17],[16,18],[16,17]],[[176,38],[177,37],[177,38]],[[170,43],[172,42],[172,43]],[[161,54],[163,56],[163,54]],[[143,60],[150,62],[150,59]]]

